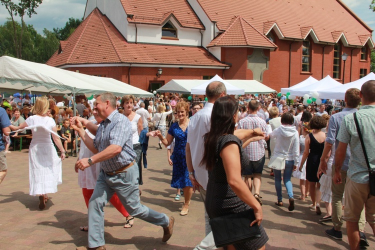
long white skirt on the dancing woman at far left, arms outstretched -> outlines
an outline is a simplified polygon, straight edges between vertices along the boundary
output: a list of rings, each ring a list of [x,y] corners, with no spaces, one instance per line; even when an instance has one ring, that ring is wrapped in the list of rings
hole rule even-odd
[[[53,144],[30,144],[28,149],[29,194],[57,192],[62,183],[61,159]]]

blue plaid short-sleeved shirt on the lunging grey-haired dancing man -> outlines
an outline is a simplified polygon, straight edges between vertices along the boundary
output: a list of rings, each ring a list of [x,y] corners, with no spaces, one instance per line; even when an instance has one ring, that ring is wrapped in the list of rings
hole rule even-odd
[[[129,119],[114,110],[100,122],[97,128],[94,146],[99,152],[109,145],[119,145],[122,150],[119,154],[100,162],[100,167],[106,172],[115,171],[131,163],[136,154],[133,150],[131,123]]]

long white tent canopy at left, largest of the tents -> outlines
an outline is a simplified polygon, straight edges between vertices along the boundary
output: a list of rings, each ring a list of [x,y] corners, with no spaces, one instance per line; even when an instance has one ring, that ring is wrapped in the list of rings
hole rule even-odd
[[[90,76],[61,68],[21,60],[9,56],[0,57],[0,90],[31,91],[32,93],[102,93],[116,95],[133,93],[153,96],[151,93],[124,82],[106,77]],[[133,92],[131,92],[133,91]]]

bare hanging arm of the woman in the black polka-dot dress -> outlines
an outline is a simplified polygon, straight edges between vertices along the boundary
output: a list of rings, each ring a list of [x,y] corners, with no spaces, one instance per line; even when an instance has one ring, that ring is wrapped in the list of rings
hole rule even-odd
[[[226,173],[226,179],[229,186],[232,188],[234,193],[246,204],[254,209],[255,220],[251,222],[250,226],[254,223],[260,225],[263,219],[263,212],[259,202],[254,198],[251,191],[242,180],[241,176],[241,161],[239,156],[233,157],[233,155],[239,155],[238,144],[235,142],[227,143],[220,152],[220,157],[224,165]]]

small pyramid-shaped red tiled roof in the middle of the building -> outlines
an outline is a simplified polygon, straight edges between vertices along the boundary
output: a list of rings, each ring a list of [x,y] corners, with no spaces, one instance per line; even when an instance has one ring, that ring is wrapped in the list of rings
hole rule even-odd
[[[277,47],[240,16],[232,18],[226,30],[207,45],[207,47],[211,46]]]

